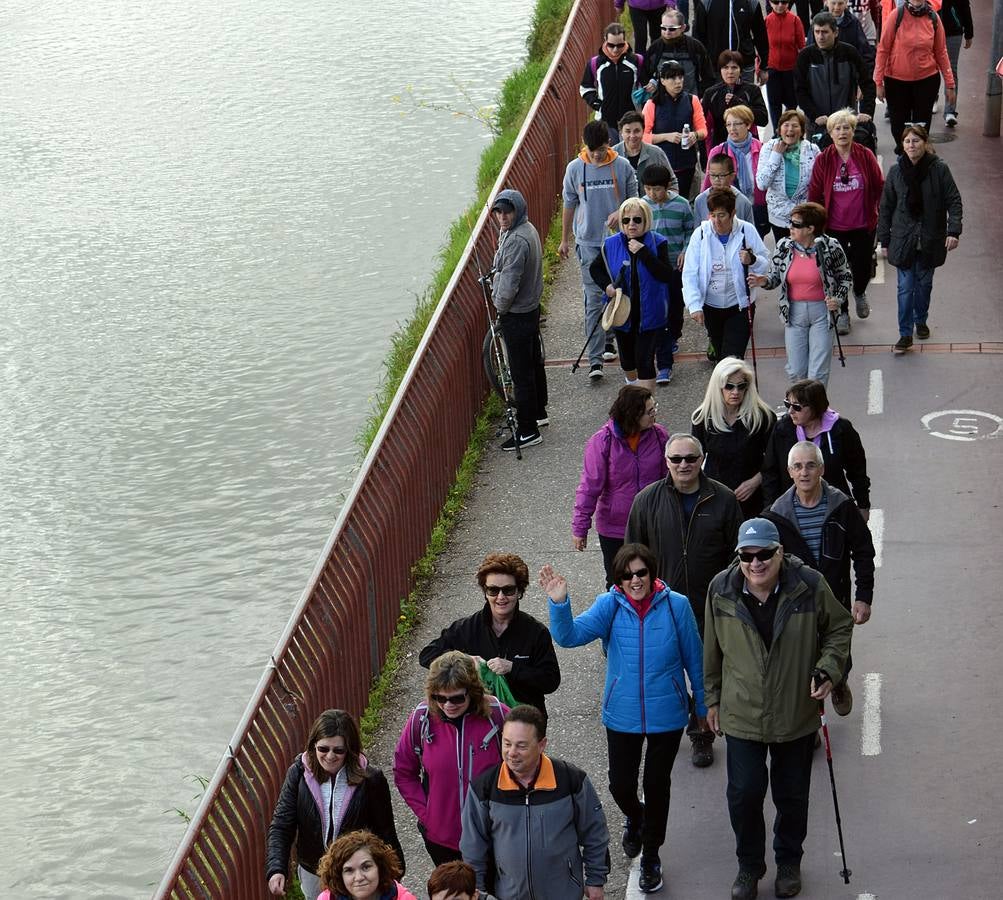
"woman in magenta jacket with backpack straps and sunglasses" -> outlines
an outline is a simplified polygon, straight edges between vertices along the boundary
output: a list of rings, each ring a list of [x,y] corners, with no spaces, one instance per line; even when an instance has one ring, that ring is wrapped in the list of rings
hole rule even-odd
[[[418,817],[435,865],[461,858],[460,813],[470,782],[501,762],[509,707],[484,691],[473,658],[450,650],[425,678],[425,699],[408,716],[393,755],[393,780]]]

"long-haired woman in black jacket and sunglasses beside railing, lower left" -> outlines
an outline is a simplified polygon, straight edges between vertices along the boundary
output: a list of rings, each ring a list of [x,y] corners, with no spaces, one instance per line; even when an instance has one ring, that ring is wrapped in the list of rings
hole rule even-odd
[[[317,865],[324,852],[339,835],[360,829],[389,844],[403,871],[386,776],[362,755],[355,719],[343,709],[328,709],[314,722],[306,749],[289,767],[279,794],[268,830],[269,891],[275,896],[286,892],[295,842],[300,887],[307,900],[317,900]]]

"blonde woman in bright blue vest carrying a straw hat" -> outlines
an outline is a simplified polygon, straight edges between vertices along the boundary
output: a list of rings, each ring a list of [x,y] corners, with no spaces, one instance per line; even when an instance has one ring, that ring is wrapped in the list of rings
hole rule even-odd
[[[628,384],[655,389],[655,350],[669,319],[669,244],[651,230],[651,207],[637,197],[620,205],[620,233],[603,242],[589,269],[611,300],[621,288],[630,315],[616,330],[620,368]]]

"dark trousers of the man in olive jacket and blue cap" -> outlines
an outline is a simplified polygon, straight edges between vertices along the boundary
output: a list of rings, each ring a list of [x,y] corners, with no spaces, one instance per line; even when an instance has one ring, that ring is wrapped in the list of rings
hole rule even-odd
[[[727,735],[728,814],[735,833],[735,853],[741,869],[766,864],[766,825],[762,804],[767,782],[776,807],[773,856],[778,866],[799,865],[808,831],[808,795],[814,735],[783,743],[760,743]],[[766,754],[769,753],[769,776]]]

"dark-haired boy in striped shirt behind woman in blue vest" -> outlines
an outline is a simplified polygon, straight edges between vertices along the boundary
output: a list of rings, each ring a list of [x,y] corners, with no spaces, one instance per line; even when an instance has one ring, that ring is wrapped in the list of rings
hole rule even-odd
[[[655,383],[668,384],[672,380],[673,354],[683,333],[683,255],[695,223],[689,202],[672,190],[672,173],[666,167],[649,166],[641,182],[644,200],[651,207],[651,230],[668,241],[673,266],[669,280],[669,320],[655,349],[658,369]]]

